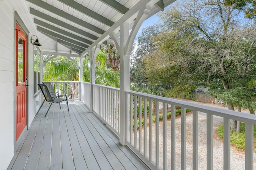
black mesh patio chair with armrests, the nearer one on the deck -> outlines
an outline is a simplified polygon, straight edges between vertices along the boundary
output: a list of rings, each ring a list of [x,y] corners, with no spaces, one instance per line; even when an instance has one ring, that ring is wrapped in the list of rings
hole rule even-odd
[[[60,104],[60,102],[63,102],[63,101],[66,100],[67,106],[68,106],[68,98],[67,98],[66,95],[57,96],[56,94],[54,94],[54,96],[53,96],[53,94],[50,93],[48,87],[45,84],[38,84],[38,86],[40,87],[40,89],[41,89],[41,91],[44,95],[44,101],[50,102],[50,106],[49,106],[46,114],[44,115],[44,117],[46,117],[50,107],[52,106],[52,103],[59,103]],[[61,98],[61,97],[64,97],[64,98]],[[42,104],[44,104],[44,102]],[[40,106],[39,110],[41,109],[41,107],[42,107],[42,105]],[[61,109],[61,107],[60,107],[60,109]],[[69,111],[69,109],[68,109],[68,111]]]

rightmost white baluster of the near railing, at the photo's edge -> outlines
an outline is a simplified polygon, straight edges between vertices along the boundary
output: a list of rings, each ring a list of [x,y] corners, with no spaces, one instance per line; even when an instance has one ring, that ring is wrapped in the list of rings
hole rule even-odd
[[[245,170],[253,169],[253,125],[245,124]]]

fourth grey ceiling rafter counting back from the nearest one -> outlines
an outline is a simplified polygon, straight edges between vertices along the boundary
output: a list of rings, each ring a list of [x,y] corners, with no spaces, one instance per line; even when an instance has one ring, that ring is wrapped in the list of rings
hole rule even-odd
[[[30,8],[30,14],[32,14],[34,16],[37,16],[39,18],[42,18],[42,19],[44,19],[46,21],[49,21],[51,23],[55,23],[57,25],[60,25],[63,28],[66,28],[66,29],[74,31],[74,32],[76,32],[78,34],[84,35],[85,37],[88,37],[90,39],[96,40],[96,39],[99,38],[99,37],[97,37],[97,36],[95,36],[93,34],[90,34],[90,33],[86,32],[86,31],[83,31],[82,29],[73,27],[72,25],[69,25],[69,24],[67,24],[67,23],[65,23],[63,21],[60,21],[60,20],[58,20],[56,18],[48,16],[48,15],[46,15],[46,14],[44,14],[44,13],[38,11],[38,10],[34,10],[33,8]]]

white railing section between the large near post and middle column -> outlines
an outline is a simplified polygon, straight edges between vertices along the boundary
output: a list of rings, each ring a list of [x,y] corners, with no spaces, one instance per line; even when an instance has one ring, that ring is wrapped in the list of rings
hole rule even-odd
[[[120,89],[93,84],[93,111],[119,136]]]

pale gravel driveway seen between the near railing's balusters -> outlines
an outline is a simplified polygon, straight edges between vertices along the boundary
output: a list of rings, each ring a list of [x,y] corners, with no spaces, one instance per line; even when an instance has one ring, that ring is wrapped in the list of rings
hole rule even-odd
[[[180,117],[176,118],[176,170],[180,170],[181,164],[181,121]],[[218,138],[216,133],[217,128],[222,124],[222,117],[213,117],[213,169],[223,170],[223,142]],[[159,141],[162,141],[162,122],[159,123]],[[171,169],[171,121],[167,121],[167,169]],[[147,128],[147,133],[149,128]],[[137,133],[138,134],[138,133]],[[143,136],[143,130],[142,130]],[[148,137],[149,135],[147,135]],[[143,140],[143,139],[142,139]],[[148,141],[149,139],[147,139]],[[153,141],[155,140],[155,124],[153,124]],[[148,143],[148,142],[147,142]],[[143,141],[142,141],[143,145]],[[148,146],[148,145],[147,145]],[[143,146],[142,146],[143,147]],[[243,170],[245,169],[245,154],[244,152],[238,151],[231,147],[230,153],[230,169],[231,170]],[[149,150],[147,149],[147,153]],[[186,115],[186,170],[192,170],[192,154],[193,154],[193,143],[192,143],[192,113]],[[153,142],[153,160],[155,160],[155,143]],[[162,167],[162,142],[160,142],[160,167]],[[198,112],[198,169],[206,170],[206,113]],[[256,170],[256,159],[254,159],[254,170]]]

